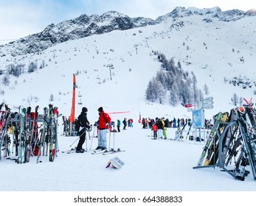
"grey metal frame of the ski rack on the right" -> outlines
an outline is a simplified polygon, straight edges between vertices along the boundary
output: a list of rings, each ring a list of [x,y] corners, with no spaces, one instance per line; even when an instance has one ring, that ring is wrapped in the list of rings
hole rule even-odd
[[[220,135],[220,132],[218,132],[218,128],[217,128],[218,124],[226,124],[226,127],[225,127],[224,131],[221,133],[221,135]],[[215,129],[216,135],[218,136],[218,140],[219,140],[218,141],[218,161],[214,165],[194,166],[193,169],[219,167],[219,168],[223,169],[224,171],[226,171],[228,174],[230,174],[232,177],[237,179],[235,177],[235,174],[233,174],[231,171],[229,171],[228,169],[225,168],[225,164],[224,164],[224,166],[221,166],[222,142],[223,142],[224,136],[226,135],[226,132],[228,131],[228,129],[232,126],[235,126],[235,125],[238,125],[237,121],[233,121],[233,122],[216,121],[215,124],[213,124],[213,127]],[[214,141],[214,140],[212,140],[212,141]],[[215,151],[215,152],[217,152],[217,151]]]

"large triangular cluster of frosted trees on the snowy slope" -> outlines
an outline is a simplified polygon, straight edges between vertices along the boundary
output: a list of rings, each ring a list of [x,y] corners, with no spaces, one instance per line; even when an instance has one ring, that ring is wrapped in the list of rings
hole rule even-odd
[[[193,73],[183,71],[181,63],[175,64],[173,58],[167,60],[165,54],[157,54],[157,60],[162,63],[161,70],[156,73],[156,77],[148,82],[148,88],[145,92],[146,99],[151,102],[159,101],[163,104],[164,99],[169,93],[170,105],[194,104],[199,107],[200,100],[204,99],[204,93],[208,94],[207,85],[204,87],[204,93],[197,87],[197,78]]]

